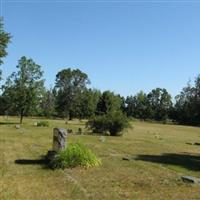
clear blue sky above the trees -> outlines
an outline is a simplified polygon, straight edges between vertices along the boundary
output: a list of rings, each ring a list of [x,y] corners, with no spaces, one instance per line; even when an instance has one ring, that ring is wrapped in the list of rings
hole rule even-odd
[[[13,36],[4,78],[24,55],[47,87],[71,67],[124,96],[156,87],[175,96],[200,73],[200,1],[0,1]]]

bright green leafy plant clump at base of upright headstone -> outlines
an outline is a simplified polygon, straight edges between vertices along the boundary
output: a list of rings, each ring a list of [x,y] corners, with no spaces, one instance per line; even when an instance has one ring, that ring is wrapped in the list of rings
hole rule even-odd
[[[53,169],[76,166],[89,168],[101,165],[101,160],[82,143],[71,143],[65,150],[56,153],[49,165]]]

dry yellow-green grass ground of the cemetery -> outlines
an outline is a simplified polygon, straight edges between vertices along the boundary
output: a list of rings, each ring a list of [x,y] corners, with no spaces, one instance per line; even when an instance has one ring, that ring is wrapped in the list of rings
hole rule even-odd
[[[43,155],[52,148],[52,129],[84,129],[85,121],[0,117],[0,199],[200,199],[200,185],[181,176],[200,177],[200,128],[131,122],[122,137],[68,134],[68,142],[80,141],[102,160],[100,167],[48,169]],[[46,120],[46,119],[45,119]],[[123,160],[124,157],[130,160]]]

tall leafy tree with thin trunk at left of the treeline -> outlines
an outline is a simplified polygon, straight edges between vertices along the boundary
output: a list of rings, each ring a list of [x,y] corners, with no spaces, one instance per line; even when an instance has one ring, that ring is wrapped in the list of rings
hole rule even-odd
[[[41,66],[23,56],[17,66],[18,72],[12,73],[3,86],[2,96],[6,99],[8,112],[20,115],[31,114],[40,102],[44,90]]]

